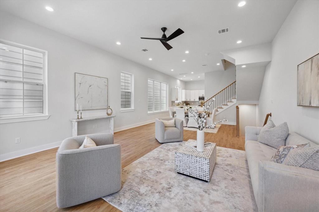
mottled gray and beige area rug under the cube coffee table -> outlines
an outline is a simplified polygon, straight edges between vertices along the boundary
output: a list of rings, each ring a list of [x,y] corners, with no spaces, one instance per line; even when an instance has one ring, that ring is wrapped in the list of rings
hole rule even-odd
[[[102,197],[128,211],[257,211],[245,152],[217,147],[210,182],[174,171],[174,151],[163,144],[122,169],[120,191]]]

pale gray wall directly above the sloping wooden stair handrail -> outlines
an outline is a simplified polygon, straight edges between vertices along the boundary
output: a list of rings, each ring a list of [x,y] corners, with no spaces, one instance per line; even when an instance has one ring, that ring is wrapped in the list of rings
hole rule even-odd
[[[226,71],[212,71],[205,73],[205,99],[224,89],[236,80],[235,65],[227,67]]]

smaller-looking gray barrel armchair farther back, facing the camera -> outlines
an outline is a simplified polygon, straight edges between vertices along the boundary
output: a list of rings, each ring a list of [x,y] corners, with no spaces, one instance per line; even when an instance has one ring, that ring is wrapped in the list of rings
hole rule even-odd
[[[158,118],[155,119],[155,138],[159,143],[182,141],[184,137],[183,120],[178,118],[161,118],[162,120],[175,119],[175,127],[165,127]]]

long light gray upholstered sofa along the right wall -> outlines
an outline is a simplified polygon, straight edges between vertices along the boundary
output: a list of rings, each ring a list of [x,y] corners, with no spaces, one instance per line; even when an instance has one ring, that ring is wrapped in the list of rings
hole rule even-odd
[[[258,211],[319,211],[319,172],[271,162],[276,148],[259,143],[262,127],[245,127],[245,150]],[[291,132],[286,145],[310,143]]]

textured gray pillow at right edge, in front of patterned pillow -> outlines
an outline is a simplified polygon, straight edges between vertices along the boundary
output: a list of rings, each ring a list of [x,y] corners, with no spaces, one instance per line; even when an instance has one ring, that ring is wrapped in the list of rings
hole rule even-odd
[[[283,164],[319,171],[319,145],[290,150]]]

